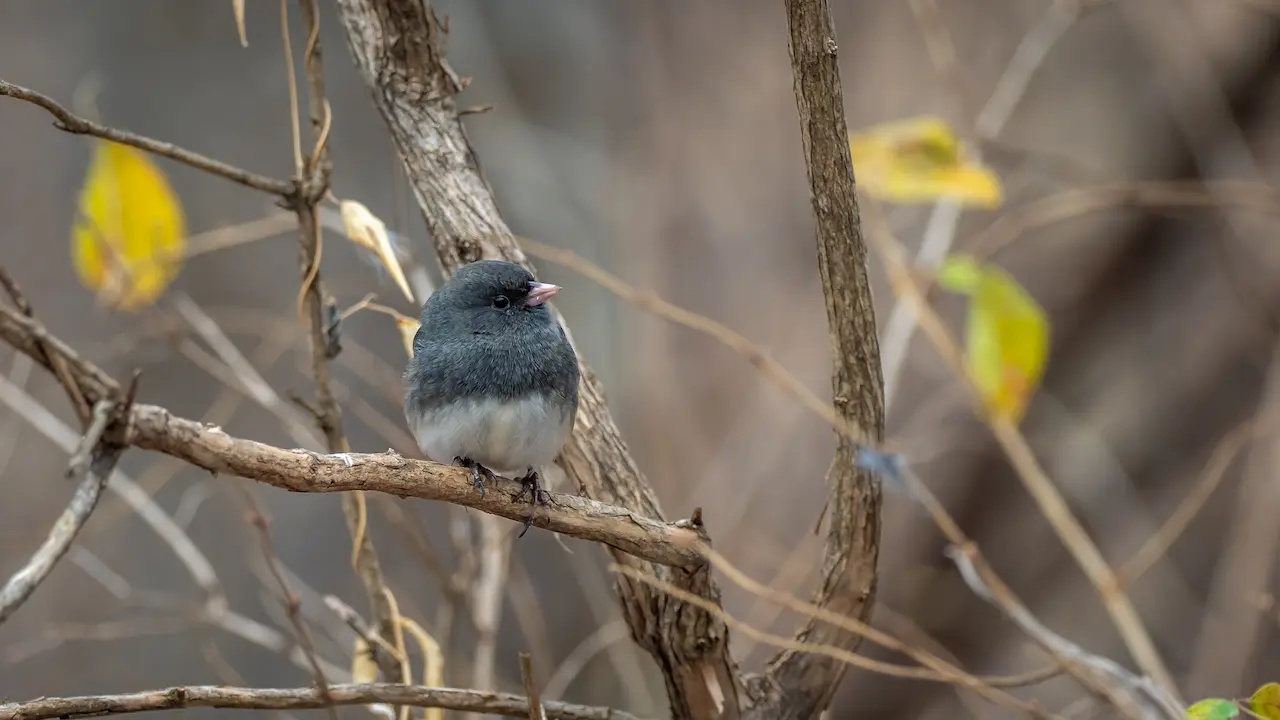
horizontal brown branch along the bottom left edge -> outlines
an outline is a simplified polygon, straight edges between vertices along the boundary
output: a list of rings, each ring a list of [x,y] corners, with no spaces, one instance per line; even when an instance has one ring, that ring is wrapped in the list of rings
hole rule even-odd
[[[529,698],[508,693],[428,688],[422,685],[367,684],[329,685],[332,705],[370,705],[375,702],[413,707],[488,712],[504,717],[529,717]],[[238,710],[314,710],[330,707],[317,688],[228,688],[189,685],[127,694],[86,697],[45,697],[0,705],[0,720],[46,720],[123,715],[184,707],[225,707]],[[630,712],[568,702],[543,702],[549,719],[559,720],[639,720]]]

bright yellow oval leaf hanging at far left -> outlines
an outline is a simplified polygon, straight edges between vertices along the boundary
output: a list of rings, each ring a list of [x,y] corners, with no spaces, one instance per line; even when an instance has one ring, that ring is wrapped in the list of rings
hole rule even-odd
[[[182,202],[145,152],[100,140],[72,229],[72,263],[84,287],[120,310],[155,302],[182,269]]]

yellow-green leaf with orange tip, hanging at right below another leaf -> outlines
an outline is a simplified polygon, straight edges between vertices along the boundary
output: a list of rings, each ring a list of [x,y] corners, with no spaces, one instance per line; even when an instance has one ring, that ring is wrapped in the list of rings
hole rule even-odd
[[[1018,423],[1048,359],[1044,310],[1009,273],[965,255],[947,258],[938,279],[969,296],[965,361],[987,410]]]

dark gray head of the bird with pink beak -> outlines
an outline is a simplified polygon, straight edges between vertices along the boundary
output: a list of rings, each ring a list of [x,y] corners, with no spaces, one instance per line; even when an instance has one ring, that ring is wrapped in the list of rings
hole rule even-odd
[[[470,263],[428,299],[422,327],[428,332],[451,329],[475,334],[554,327],[547,301],[557,291],[559,286],[538,282],[515,263]]]

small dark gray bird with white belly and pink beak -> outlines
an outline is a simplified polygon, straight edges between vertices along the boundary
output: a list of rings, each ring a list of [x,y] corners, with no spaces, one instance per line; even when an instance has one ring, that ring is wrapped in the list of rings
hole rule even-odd
[[[559,452],[577,413],[577,359],[547,301],[558,286],[500,260],[460,268],[422,306],[404,372],[404,419],[436,462],[484,478],[520,475],[545,505],[539,468]],[[532,512],[521,536],[529,530]]]

